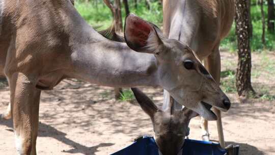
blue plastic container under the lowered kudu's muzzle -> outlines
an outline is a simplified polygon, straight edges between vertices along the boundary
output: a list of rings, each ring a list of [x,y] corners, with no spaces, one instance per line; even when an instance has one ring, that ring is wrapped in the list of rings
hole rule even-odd
[[[182,154],[188,155],[225,155],[226,149],[217,143],[185,139]],[[142,137],[130,146],[111,155],[159,155],[153,137]]]

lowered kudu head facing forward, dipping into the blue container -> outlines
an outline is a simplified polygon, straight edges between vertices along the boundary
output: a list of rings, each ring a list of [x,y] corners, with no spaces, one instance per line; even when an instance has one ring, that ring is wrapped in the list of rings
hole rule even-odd
[[[198,114],[187,108],[159,109],[153,101],[137,88],[131,88],[143,111],[152,120],[156,143],[162,155],[181,155],[185,136],[188,136],[190,119]]]

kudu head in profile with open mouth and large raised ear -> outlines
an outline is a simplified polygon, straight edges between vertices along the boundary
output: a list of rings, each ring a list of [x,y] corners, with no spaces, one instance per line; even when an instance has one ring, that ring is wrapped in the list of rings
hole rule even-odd
[[[212,106],[229,110],[229,98],[187,45],[164,37],[156,25],[133,14],[125,19],[124,37],[131,49],[155,56],[158,83],[179,104],[207,120],[217,119]]]

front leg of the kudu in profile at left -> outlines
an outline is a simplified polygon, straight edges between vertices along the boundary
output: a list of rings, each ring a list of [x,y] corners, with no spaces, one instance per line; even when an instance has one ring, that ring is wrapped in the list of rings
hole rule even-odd
[[[13,73],[9,77],[9,83],[17,153],[36,154],[41,91],[36,89],[34,78],[20,72]]]

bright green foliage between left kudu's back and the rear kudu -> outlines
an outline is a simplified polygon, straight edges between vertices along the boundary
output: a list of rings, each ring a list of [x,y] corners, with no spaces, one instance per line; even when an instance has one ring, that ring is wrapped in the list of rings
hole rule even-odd
[[[121,4],[122,22],[125,19],[125,9]],[[76,1],[75,8],[84,19],[91,24],[94,28],[106,29],[113,21],[111,10],[103,3]],[[145,20],[153,22],[154,24],[161,26],[162,24],[162,7],[158,2],[151,3],[151,9],[146,8],[145,3],[138,3],[137,8],[134,7],[134,3],[129,3],[130,12],[142,17]],[[124,24],[123,24],[124,25]]]

